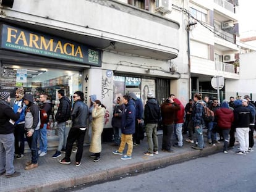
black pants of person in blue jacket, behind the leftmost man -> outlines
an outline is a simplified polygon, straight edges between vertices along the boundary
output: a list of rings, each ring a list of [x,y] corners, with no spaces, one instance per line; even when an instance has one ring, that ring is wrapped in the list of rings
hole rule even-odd
[[[15,125],[14,146],[15,146],[15,154],[17,155],[24,154],[24,141],[25,141],[24,136],[25,136],[24,123]]]

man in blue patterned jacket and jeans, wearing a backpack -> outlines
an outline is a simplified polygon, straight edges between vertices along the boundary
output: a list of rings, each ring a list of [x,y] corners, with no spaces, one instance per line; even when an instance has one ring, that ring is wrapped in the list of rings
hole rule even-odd
[[[197,145],[192,146],[192,148],[203,150],[205,145],[203,142],[203,124],[205,122],[202,117],[203,115],[202,94],[195,93],[194,101],[195,101],[195,104],[193,106],[192,121],[193,121],[193,127],[195,130],[195,135],[197,136],[198,143]]]

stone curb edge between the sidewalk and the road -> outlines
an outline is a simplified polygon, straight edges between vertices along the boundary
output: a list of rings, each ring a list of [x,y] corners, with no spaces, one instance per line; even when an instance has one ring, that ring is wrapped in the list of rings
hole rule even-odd
[[[156,159],[147,159],[144,162],[135,162],[134,164],[126,165],[124,167],[116,167],[114,169],[103,170],[101,172],[95,172],[93,174],[79,175],[77,177],[71,177],[69,179],[62,179],[53,183],[42,183],[41,185],[30,185],[26,188],[20,188],[19,192],[23,191],[36,191],[36,192],[48,192],[48,191],[66,191],[67,188],[74,188],[79,185],[95,185],[97,183],[104,183],[109,180],[117,180],[120,177],[127,177],[138,173],[147,172],[150,170],[164,168],[169,165],[178,164],[198,157],[205,157],[210,154],[215,154],[223,149],[222,144],[218,144],[215,147],[207,147],[200,150],[193,149],[192,151],[186,151],[179,154],[171,154],[171,156],[158,157]]]

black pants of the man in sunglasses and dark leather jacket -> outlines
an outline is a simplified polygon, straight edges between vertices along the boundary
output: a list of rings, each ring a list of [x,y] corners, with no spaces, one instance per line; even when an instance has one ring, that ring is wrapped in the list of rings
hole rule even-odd
[[[75,154],[75,162],[80,162],[83,156],[83,141],[85,140],[85,130],[82,131],[80,128],[70,128],[69,135],[67,136],[66,145],[66,161],[70,161],[72,147],[75,141],[77,142],[77,153]]]

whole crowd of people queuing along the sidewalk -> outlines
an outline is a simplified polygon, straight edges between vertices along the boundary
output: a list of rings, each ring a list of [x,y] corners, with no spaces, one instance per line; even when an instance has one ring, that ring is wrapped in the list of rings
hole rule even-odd
[[[101,134],[104,128],[106,107],[96,95],[90,96],[90,106],[85,104],[82,91],[75,91],[74,104],[64,95],[64,90],[58,91],[59,107],[55,119],[58,122],[58,149],[53,158],[64,155],[59,160],[60,164],[70,164],[70,156],[75,152],[75,165],[82,162],[83,143],[90,143],[90,157],[94,162],[101,159]],[[10,106],[10,94],[0,93],[0,175],[17,177],[20,172],[15,171],[14,154],[17,159],[24,156],[24,135],[31,150],[31,161],[25,163],[25,170],[38,167],[39,157],[47,154],[47,131],[51,103],[48,95],[40,95],[41,106],[34,102],[32,94],[24,94],[18,88],[15,94],[14,107]],[[72,106],[72,109],[71,109]],[[4,109],[4,110],[2,110]],[[47,113],[47,119],[40,126],[40,109]],[[72,126],[67,131],[66,122],[72,120]],[[154,156],[159,153],[157,130],[163,130],[161,151],[174,152],[173,147],[182,148],[183,141],[193,143],[193,149],[203,150],[205,147],[203,129],[207,129],[208,143],[216,146],[223,141],[223,152],[228,153],[229,148],[234,148],[235,132],[239,141],[237,154],[247,154],[254,151],[254,126],[255,106],[249,96],[244,99],[233,97],[230,101],[195,94],[193,99],[184,107],[174,94],[160,105],[153,93],[147,94],[147,103],[143,107],[142,99],[134,93],[129,93],[122,98],[117,97],[113,110],[113,146],[118,149],[113,154],[120,155],[122,160],[132,159],[134,146],[140,144],[147,136],[148,149],[143,154]],[[40,128],[41,127],[41,128]],[[184,136],[188,138],[184,140]],[[172,142],[175,138],[176,142]],[[127,150],[126,150],[127,144]],[[38,148],[39,146],[39,148]],[[126,153],[124,153],[126,151]]]

